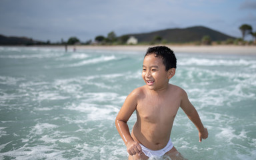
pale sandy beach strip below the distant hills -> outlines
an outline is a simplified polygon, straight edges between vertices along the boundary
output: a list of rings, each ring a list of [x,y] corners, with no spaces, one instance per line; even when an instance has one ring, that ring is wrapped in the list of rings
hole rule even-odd
[[[143,51],[155,45],[69,45],[68,51],[83,49],[107,50],[107,51]],[[256,46],[241,45],[165,45],[175,53],[209,53],[209,54],[231,54],[231,55],[256,55]],[[1,47],[22,47],[22,46],[1,46]],[[58,48],[65,51],[64,45],[32,45],[28,47]]]

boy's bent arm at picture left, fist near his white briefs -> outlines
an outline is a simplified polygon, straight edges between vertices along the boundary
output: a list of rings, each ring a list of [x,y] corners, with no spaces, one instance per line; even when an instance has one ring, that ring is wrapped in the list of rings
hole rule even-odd
[[[140,155],[142,153],[141,146],[139,143],[133,140],[127,125],[127,121],[137,107],[136,93],[136,91],[133,91],[127,96],[125,103],[123,103],[123,107],[121,107],[115,119],[115,126],[117,127],[117,131],[127,147],[127,152],[129,155],[136,155],[137,153]]]

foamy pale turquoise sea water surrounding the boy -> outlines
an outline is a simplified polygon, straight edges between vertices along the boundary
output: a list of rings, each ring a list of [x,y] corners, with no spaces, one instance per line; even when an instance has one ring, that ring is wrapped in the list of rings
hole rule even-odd
[[[0,159],[127,159],[115,117],[145,84],[145,51],[0,47]],[[209,131],[199,143],[179,109],[177,150],[187,159],[256,159],[256,56],[176,55],[170,83],[187,91]]]

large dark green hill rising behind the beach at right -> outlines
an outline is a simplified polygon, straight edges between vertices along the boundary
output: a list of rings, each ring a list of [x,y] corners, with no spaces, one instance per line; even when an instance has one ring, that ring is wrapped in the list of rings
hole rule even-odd
[[[133,36],[137,38],[139,42],[151,42],[155,37],[161,37],[161,39],[165,39],[168,43],[187,43],[201,41],[205,35],[209,35],[211,41],[235,39],[235,37],[202,26],[188,27],[185,29],[165,29],[161,31],[153,31],[151,33],[128,34],[126,36]]]

